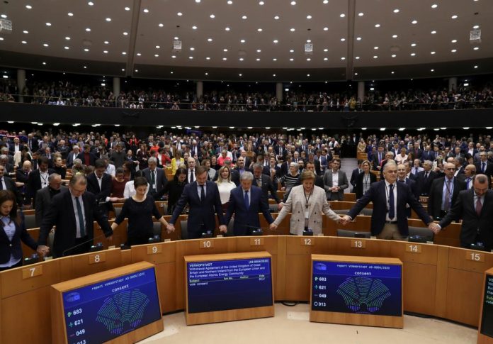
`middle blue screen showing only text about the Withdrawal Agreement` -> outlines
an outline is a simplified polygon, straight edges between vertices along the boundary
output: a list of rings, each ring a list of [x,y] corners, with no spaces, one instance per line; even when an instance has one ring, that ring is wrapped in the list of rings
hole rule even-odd
[[[271,258],[187,262],[188,313],[272,306]]]

